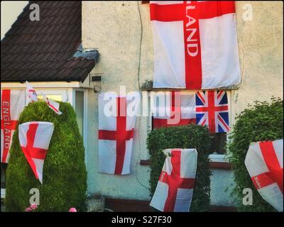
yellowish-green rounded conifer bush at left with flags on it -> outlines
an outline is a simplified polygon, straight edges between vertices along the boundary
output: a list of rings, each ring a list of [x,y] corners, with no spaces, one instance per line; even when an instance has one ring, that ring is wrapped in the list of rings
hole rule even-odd
[[[24,211],[30,205],[31,188],[40,191],[37,211],[69,211],[70,207],[84,210],[87,172],[83,140],[72,106],[60,102],[60,111],[63,114],[55,114],[44,101],[23,109],[19,123],[50,121],[54,131],[43,166],[43,186],[35,179],[20,148],[18,129],[15,131],[6,171],[6,211]]]

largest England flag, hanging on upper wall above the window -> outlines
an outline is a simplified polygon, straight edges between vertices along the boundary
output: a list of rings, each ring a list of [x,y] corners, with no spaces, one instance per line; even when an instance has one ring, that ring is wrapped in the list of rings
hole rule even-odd
[[[150,1],[154,88],[239,84],[234,1]]]

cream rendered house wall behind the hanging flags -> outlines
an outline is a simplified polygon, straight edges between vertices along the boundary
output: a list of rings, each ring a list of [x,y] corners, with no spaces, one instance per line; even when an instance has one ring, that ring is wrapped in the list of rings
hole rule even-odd
[[[249,5],[247,5],[249,4]],[[153,37],[149,4],[141,1],[83,1],[82,44],[98,48],[100,60],[92,73],[102,73],[102,92],[138,90],[138,60],[141,40],[140,84],[153,79]],[[252,21],[244,21],[245,6],[252,6]],[[231,123],[234,116],[256,99],[283,96],[283,3],[278,1],[237,1],[236,22],[242,82],[231,92]],[[131,175],[114,176],[97,172],[97,94],[88,91],[88,191],[121,199],[149,199],[148,167],[139,165],[148,159],[146,135],[148,120],[137,119],[133,142]],[[231,206],[229,192],[233,172],[213,170],[211,199],[213,205]],[[229,188],[229,192],[224,192]]]

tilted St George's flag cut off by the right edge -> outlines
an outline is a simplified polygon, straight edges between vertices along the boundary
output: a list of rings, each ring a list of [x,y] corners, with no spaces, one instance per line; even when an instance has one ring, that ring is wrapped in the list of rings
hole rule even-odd
[[[263,199],[283,211],[283,139],[252,143],[244,162]]]

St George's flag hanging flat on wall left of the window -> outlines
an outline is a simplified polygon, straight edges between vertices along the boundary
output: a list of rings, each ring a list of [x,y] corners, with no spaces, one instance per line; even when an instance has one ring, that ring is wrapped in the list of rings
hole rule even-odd
[[[128,175],[140,94],[99,94],[99,172]]]

